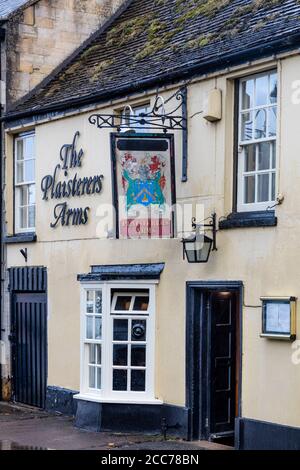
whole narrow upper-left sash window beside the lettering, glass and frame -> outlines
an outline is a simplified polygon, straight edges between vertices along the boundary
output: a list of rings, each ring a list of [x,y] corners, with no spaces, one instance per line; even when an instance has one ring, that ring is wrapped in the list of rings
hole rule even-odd
[[[15,139],[15,229],[35,228],[35,136],[20,134]]]

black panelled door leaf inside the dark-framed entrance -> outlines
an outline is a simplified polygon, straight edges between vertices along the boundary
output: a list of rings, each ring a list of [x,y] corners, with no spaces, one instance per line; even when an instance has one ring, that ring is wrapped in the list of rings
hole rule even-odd
[[[210,293],[209,431],[210,436],[234,431],[236,414],[236,295]]]

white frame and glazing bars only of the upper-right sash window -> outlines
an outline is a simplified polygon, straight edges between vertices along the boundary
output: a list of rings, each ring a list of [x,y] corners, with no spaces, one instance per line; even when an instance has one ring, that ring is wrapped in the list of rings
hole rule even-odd
[[[251,108],[243,109],[242,108],[242,97],[243,97],[243,83],[251,80],[257,79],[264,76],[271,76],[273,74],[277,75],[277,101],[276,103],[270,103],[267,105],[260,105],[253,106]],[[255,82],[256,84],[256,82]],[[254,85],[255,86],[255,85]],[[254,94],[256,90],[254,90]],[[243,77],[239,80],[239,109],[238,109],[238,173],[237,173],[237,212],[254,212],[254,211],[266,211],[268,208],[274,205],[276,200],[276,192],[277,192],[277,171],[278,171],[278,139],[279,139],[279,97],[280,97],[280,88],[279,88],[279,75],[277,69],[271,69],[265,72],[260,72],[257,74],[248,75]],[[277,122],[276,122],[276,136],[268,136],[264,138],[255,138],[252,135],[252,139],[249,140],[242,140],[242,114],[246,112],[254,113],[261,109],[270,109],[276,108],[277,110]],[[267,128],[268,128],[268,118],[267,118]],[[255,132],[254,125],[253,125],[253,133]],[[257,168],[254,171],[245,171],[245,147],[248,145],[259,144],[262,142],[274,142],[275,143],[275,153],[276,153],[276,160],[275,160],[275,169],[267,169],[267,170],[258,170]],[[257,153],[257,152],[256,152]],[[258,157],[256,156],[256,159]],[[256,163],[257,164],[257,163]],[[245,203],[244,202],[244,194],[245,194],[245,176],[255,176],[255,199],[257,198],[257,191],[258,191],[258,184],[257,184],[257,176],[268,174],[269,175],[269,200],[264,202],[254,202],[254,203]],[[275,174],[275,199],[272,199],[272,174]]]

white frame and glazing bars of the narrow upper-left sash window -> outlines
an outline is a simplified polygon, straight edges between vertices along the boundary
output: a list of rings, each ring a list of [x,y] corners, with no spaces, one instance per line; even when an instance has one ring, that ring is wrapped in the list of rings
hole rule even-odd
[[[30,131],[30,132],[22,133],[22,134],[17,135],[14,139],[14,211],[15,211],[14,224],[15,224],[15,232],[16,233],[35,232],[35,227],[36,227],[36,194],[35,194],[35,203],[34,204],[23,206],[23,207],[27,207],[27,209],[31,206],[34,206],[34,208],[35,208],[34,227],[29,227],[29,226],[21,227],[21,219],[20,219],[21,205],[20,205],[20,191],[19,191],[24,187],[29,188],[30,186],[34,186],[35,190],[36,190],[36,178],[33,181],[28,180],[28,181],[22,181],[21,183],[19,183],[17,181],[17,178],[18,178],[18,162],[20,162],[20,160],[17,159],[17,144],[18,144],[19,141],[24,141],[25,139],[31,138],[31,137],[34,138],[34,157],[30,158],[30,159],[27,159],[27,160],[24,159],[23,161],[24,162],[25,161],[33,161],[34,166],[35,166],[35,162],[36,162],[35,132]]]

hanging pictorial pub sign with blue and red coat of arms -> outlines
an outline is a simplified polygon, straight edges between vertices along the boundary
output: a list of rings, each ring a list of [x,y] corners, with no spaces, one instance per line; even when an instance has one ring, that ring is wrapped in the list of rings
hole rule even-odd
[[[173,237],[173,135],[112,134],[112,165],[117,236]]]

